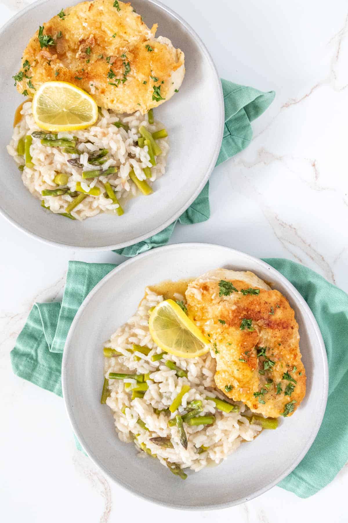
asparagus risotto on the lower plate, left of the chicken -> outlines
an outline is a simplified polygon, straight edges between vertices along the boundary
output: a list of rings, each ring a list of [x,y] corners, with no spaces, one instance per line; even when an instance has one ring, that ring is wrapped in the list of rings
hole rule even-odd
[[[185,359],[155,345],[148,320],[161,301],[147,288],[135,315],[105,343],[103,395],[119,439],[134,441],[139,456],[157,458],[185,479],[183,469],[220,463],[261,426],[242,415],[244,404],[227,403],[215,388],[213,351]]]

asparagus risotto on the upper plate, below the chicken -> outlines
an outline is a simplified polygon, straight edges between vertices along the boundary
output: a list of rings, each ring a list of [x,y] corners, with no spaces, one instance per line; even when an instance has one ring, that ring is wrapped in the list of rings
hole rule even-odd
[[[164,126],[156,120],[149,123],[148,115],[139,111],[129,116],[100,109],[88,129],[59,133],[38,128],[31,101],[20,113],[8,153],[21,170],[23,184],[54,213],[77,220],[100,212],[121,215],[125,200],[150,194],[153,182],[165,172],[169,144]]]

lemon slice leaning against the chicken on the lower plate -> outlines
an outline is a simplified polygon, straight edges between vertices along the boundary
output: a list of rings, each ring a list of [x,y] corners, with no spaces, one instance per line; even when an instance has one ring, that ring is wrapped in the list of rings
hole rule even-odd
[[[196,358],[209,350],[209,340],[173,300],[162,301],[154,308],[149,329],[153,341],[174,356]]]

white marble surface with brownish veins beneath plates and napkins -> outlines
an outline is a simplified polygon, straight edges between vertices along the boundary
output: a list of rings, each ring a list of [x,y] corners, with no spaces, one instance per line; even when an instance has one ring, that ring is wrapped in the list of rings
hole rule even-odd
[[[274,89],[249,148],[215,169],[211,219],[178,225],[172,242],[202,241],[254,256],[300,261],[348,291],[348,5],[315,0],[164,0],[207,44],[220,75]],[[28,5],[2,0],[1,23]],[[62,7],[60,4],[59,9]],[[58,10],[59,10],[58,9]],[[0,219],[2,521],[348,521],[348,467],[309,499],[279,487],[244,505],[177,513],[106,480],[75,448],[63,400],[15,377],[9,352],[35,301],[62,296],[69,259],[117,262],[114,253],[65,251]],[[131,510],[129,510],[131,507]]]

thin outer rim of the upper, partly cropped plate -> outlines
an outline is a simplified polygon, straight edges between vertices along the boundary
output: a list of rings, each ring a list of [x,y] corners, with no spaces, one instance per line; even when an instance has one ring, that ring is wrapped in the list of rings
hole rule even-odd
[[[62,242],[56,242],[54,240],[49,240],[47,238],[44,238],[40,234],[28,231],[25,228],[24,225],[22,225],[19,222],[17,222],[16,219],[11,218],[9,216],[9,214],[4,209],[2,209],[0,207],[0,215],[2,215],[2,217],[4,217],[9,223],[14,225],[16,227],[16,229],[24,232],[25,234],[27,234],[31,238],[34,238],[35,240],[39,240],[42,243],[45,243],[45,244],[48,244],[48,245],[52,245],[54,247],[70,249],[70,250],[73,250],[73,251],[76,250],[76,249],[81,249],[81,251],[87,251],[87,252],[88,251],[89,252],[93,252],[93,251],[94,252],[102,252],[102,251],[110,251],[110,250],[113,251],[114,249],[122,249],[124,247],[128,247],[128,246],[133,245],[135,243],[147,240],[149,237],[154,236],[155,234],[158,234],[159,232],[161,232],[164,229],[166,229],[167,226],[171,225],[175,220],[177,220],[181,216],[181,214],[183,214],[183,212],[185,212],[189,208],[191,203],[193,203],[195,201],[195,199],[198,197],[198,195],[202,191],[203,187],[205,187],[205,185],[207,184],[207,181],[209,180],[210,175],[211,175],[211,173],[212,173],[212,171],[213,171],[213,169],[215,167],[215,163],[217,162],[217,159],[218,159],[218,156],[219,156],[219,153],[220,153],[220,149],[221,149],[221,144],[222,144],[222,138],[223,138],[223,132],[224,132],[224,113],[225,113],[225,111],[224,111],[224,97],[223,97],[223,92],[222,92],[222,84],[221,84],[221,81],[220,81],[220,76],[219,76],[218,71],[217,71],[217,67],[214,64],[214,61],[213,61],[213,59],[211,57],[210,52],[208,51],[207,47],[205,46],[205,44],[203,43],[201,38],[198,36],[196,31],[178,13],[176,13],[170,7],[167,7],[166,5],[162,4],[162,2],[159,2],[158,0],[141,0],[141,1],[143,3],[145,3],[145,4],[147,2],[150,3],[150,4],[153,4],[153,5],[157,6],[157,7],[159,7],[160,9],[164,10],[167,14],[173,16],[186,29],[186,31],[191,35],[191,37],[199,45],[200,49],[202,50],[202,53],[206,55],[206,58],[207,58],[210,66],[211,66],[212,73],[213,73],[214,79],[215,79],[215,83],[217,85],[217,94],[218,94],[218,101],[219,101],[220,134],[218,133],[218,135],[217,135],[217,142],[216,142],[214,153],[213,153],[211,162],[210,162],[210,164],[208,166],[207,172],[206,172],[205,176],[203,176],[203,178],[202,178],[200,184],[198,185],[197,189],[195,190],[194,194],[191,195],[191,197],[181,207],[181,209],[179,209],[177,212],[175,212],[163,224],[158,225],[156,228],[152,229],[151,231],[149,231],[146,234],[142,234],[141,236],[133,238],[133,240],[129,240],[129,241],[126,241],[126,242],[123,242],[123,243],[115,243],[115,244],[107,245],[107,246],[103,246],[103,247],[85,247],[85,246],[81,247],[81,246],[78,246],[78,245],[68,245],[68,244],[65,244],[65,243],[62,243]],[[32,4],[28,5],[24,9],[20,10],[19,13],[15,14],[13,17],[11,17],[6,22],[6,24],[0,29],[0,36],[2,36],[7,31],[7,29],[15,21],[17,21],[19,18],[25,16],[31,9],[34,9],[35,7],[39,7],[40,5],[46,4],[48,2],[51,2],[51,0],[37,0],[37,2],[33,2]]]

